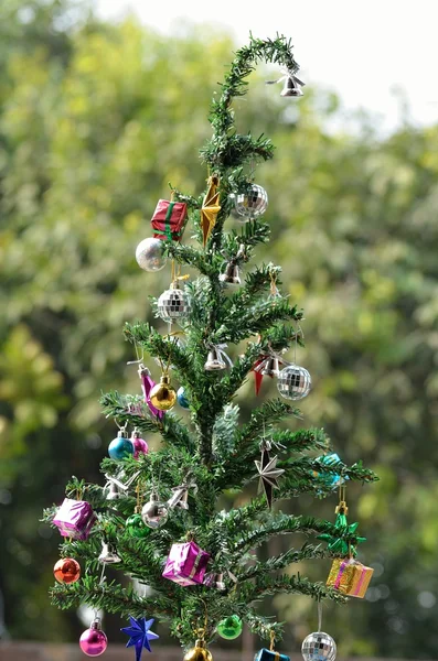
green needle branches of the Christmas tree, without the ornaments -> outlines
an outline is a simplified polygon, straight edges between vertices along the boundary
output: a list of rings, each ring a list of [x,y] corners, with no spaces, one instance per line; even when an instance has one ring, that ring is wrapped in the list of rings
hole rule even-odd
[[[330,550],[311,541],[290,549],[278,556],[254,562],[250,554],[275,535],[301,533],[307,538],[335,540],[355,545],[360,538],[355,528],[340,528],[311,517],[269,511],[265,496],[258,496],[231,511],[221,510],[218,499],[227,490],[238,491],[250,485],[256,476],[254,460],[259,457],[261,438],[267,435],[278,444],[281,455],[278,466],[285,474],[275,501],[300,494],[323,497],[331,492],[322,477],[342,475],[350,480],[373,481],[374,474],[361,464],[329,467],[311,458],[309,451],[321,454],[329,449],[327,435],[320,429],[275,429],[281,420],[299,419],[300,411],[282,399],[265,401],[255,409],[245,424],[239,424],[239,409],[233,403],[236,391],[247,379],[255,360],[268,348],[284,351],[296,345],[302,311],[290,304],[286,296],[269,296],[273,280],[280,285],[280,268],[271,263],[247,269],[241,289],[229,294],[220,280],[227,259],[236,259],[243,245],[247,263],[254,248],[269,239],[269,226],[253,219],[239,231],[224,231],[231,214],[229,195],[247,189],[257,161],[273,158],[274,148],[264,136],[253,138],[238,134],[234,127],[233,99],[246,94],[246,77],[259,61],[278,63],[289,72],[298,71],[288,40],[250,37],[239,48],[231,65],[218,100],[213,101],[210,121],[213,137],[201,151],[211,173],[220,176],[222,209],[207,240],[202,247],[183,246],[167,241],[168,254],[182,267],[191,267],[200,277],[186,286],[193,305],[190,318],[182,326],[185,345],[177,346],[162,337],[152,326],[137,322],[126,324],[126,339],[140,347],[145,356],[158,358],[163,365],[172,364],[172,380],[185,389],[190,402],[190,422],[174,412],[167,412],[162,421],[154,418],[141,398],[119,392],[102,397],[104,412],[119,424],[136,425],[141,432],[160,434],[160,449],[141,456],[116,462],[104,459],[102,470],[121,481],[132,478],[127,492],[116,501],[106,500],[102,487],[83,484],[73,478],[67,495],[81,492],[98,512],[98,520],[87,541],[65,541],[63,556],[81,559],[83,575],[74,585],[56,585],[51,590],[53,604],[60,608],[87,603],[95,608],[128,615],[156,616],[170,624],[171,631],[183,646],[190,646],[199,629],[205,625],[205,638],[215,637],[217,622],[227,615],[237,614],[254,633],[269,639],[271,631],[281,636],[278,622],[256,611],[256,603],[278,593],[308,595],[314,599],[343,602],[338,592],[321,583],[312,583],[293,573],[292,565],[303,560],[333,556]],[[199,230],[201,197],[185,195],[177,189],[177,199],[185,201],[190,209],[191,229],[201,239]],[[237,344],[246,340],[246,348],[225,373],[204,369],[209,348],[217,344]],[[148,500],[152,486],[158,484],[161,500],[190,474],[197,491],[189,491],[189,510],[172,509],[164,527],[150,531],[143,539],[131,535],[126,518],[133,513],[136,489],[142,501]],[[330,481],[330,480],[329,480]],[[45,512],[51,521],[54,510]],[[192,535],[196,543],[211,553],[210,570],[222,573],[225,592],[204,585],[182,587],[162,577],[163,564],[173,542],[183,542]],[[113,542],[121,557],[115,566],[149,587],[148,596],[139,596],[132,587],[117,582],[99,584],[97,556],[102,540]],[[287,570],[286,573],[285,570]]]

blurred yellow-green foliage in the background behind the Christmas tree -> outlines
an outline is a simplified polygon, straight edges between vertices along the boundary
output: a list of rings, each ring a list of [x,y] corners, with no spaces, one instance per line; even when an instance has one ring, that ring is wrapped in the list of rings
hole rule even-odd
[[[197,150],[234,46],[212,30],[184,26],[169,37],[133,19],[104,23],[68,0],[0,4],[3,636],[68,641],[84,628],[49,607],[60,538],[39,522],[41,510],[62,499],[72,474],[102,483],[115,430],[98,397],[138,391],[121,328],[152,321],[148,295],[168,284],[163,271],[140,271],[135,248],[150,236],[168,182],[204,188]],[[265,77],[254,74],[236,115],[241,130],[277,145],[256,178],[273,228],[259,259],[282,266],[285,288],[306,311],[298,359],[314,389],[303,424],[324,426],[345,462],[362,458],[381,476],[349,498],[368,538],[361,560],[375,567],[367,600],[327,607],[324,629],[343,654],[434,658],[438,127],[406,123],[381,137],[362,113],[346,131],[332,94],[306,88],[302,100],[285,102]],[[263,388],[275,393],[274,383]],[[239,401],[245,418],[256,403],[252,379]],[[335,496],[290,507],[333,519],[334,505]],[[281,538],[266,552],[290,543]],[[328,568],[301,571],[324,579]],[[289,622],[285,651],[316,628],[305,598],[264,607]]]

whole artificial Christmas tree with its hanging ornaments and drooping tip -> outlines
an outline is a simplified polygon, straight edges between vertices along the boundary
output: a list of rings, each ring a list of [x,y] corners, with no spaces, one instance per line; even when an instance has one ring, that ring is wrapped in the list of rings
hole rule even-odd
[[[274,426],[287,416],[299,415],[286,399],[306,397],[311,378],[296,365],[295,357],[289,362],[284,355],[290,347],[296,354],[302,342],[302,312],[280,293],[280,268],[269,263],[246,269],[241,284],[239,269],[247,267],[255,246],[269,238],[269,225],[261,220],[268,196],[254,184],[253,173],[258,160],[273,156],[274,148],[263,136],[254,139],[249,133],[236,133],[232,101],[245,94],[245,78],[260,59],[286,68],[280,78],[285,80],[281,96],[302,94],[302,83],[296,77],[298,65],[285,37],[252,37],[248,46],[237,51],[221,97],[213,101],[213,137],[201,151],[209,169],[206,192],[192,197],[172,189],[172,202],[161,201],[153,215],[153,236],[143,239],[137,250],[137,260],[146,271],[163,269],[167,259],[171,260],[170,289],[157,302],[157,314],[169,324],[169,332],[162,336],[146,323],[127,324],[126,338],[142,356],[142,394],[111,392],[102,398],[105,413],[120,427],[110,443],[110,458],[103,462],[106,485],[74,478],[67,486],[68,512],[61,517],[63,534],[70,530],[75,533],[75,539],[64,541],[62,556],[79,562],[82,577],[55,585],[53,603],[61,608],[86,603],[124,618],[129,616],[132,627],[124,630],[131,636],[128,644],[136,646],[137,658],[143,647],[149,649],[149,640],[157,638],[149,630],[152,618],[169,622],[181,643],[192,648],[186,659],[210,659],[206,644],[216,635],[235,638],[243,624],[271,641],[270,650],[263,650],[260,658],[275,657],[274,640],[281,637],[281,625],[258,613],[254,603],[279,592],[305,594],[318,602],[343,602],[345,596],[336,586],[281,571],[312,557],[341,556],[346,563],[363,539],[346,519],[338,518],[331,524],[271,509],[276,502],[303,492],[321,497],[338,486],[344,489],[348,479],[372,481],[375,476],[361,464],[348,467],[338,457],[327,460],[324,454],[311,458],[309,451],[330,451],[322,430]],[[179,204],[183,213],[177,214]],[[185,209],[185,232],[189,228],[194,232],[197,247],[181,242]],[[232,223],[239,219],[243,225],[226,232],[224,224],[232,213],[236,216]],[[185,285],[186,277],[181,274],[184,266],[200,272]],[[182,339],[173,324],[183,330]],[[225,349],[243,340],[247,342],[246,349],[233,364]],[[143,365],[146,355],[161,365],[159,383]],[[238,407],[231,402],[253,370],[259,378],[257,391],[263,376],[269,376],[278,379],[281,398],[264,402],[239,425]],[[180,411],[190,412],[188,424],[172,411],[177,402]],[[135,432],[131,437],[130,429]],[[160,449],[148,448],[140,437],[146,433],[161,435]],[[273,447],[277,456],[269,454]],[[258,497],[236,509],[218,510],[223,492],[244,489],[256,478],[261,486]],[[83,516],[84,508],[89,510],[85,532],[84,527],[78,529],[71,522],[71,512],[77,510]],[[46,511],[46,520],[54,517],[58,522],[53,509]],[[265,562],[254,562],[252,552],[257,546],[273,535],[292,532],[324,535],[332,548],[322,550],[319,544],[306,543]],[[338,540],[341,543],[336,546]],[[117,571],[147,585],[148,596],[106,582],[99,563],[104,567],[114,564]],[[354,571],[357,567],[359,563],[354,564]],[[331,638],[320,631],[311,636],[306,654],[333,658]],[[98,655],[105,650],[99,622],[92,624],[84,637],[86,653]],[[97,646],[89,644],[90,637],[98,638]]]

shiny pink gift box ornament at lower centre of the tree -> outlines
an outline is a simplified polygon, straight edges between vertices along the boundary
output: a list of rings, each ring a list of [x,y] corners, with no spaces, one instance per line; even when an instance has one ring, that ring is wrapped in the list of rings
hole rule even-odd
[[[210,553],[194,542],[172,544],[162,575],[183,586],[202,584],[209,560]]]

